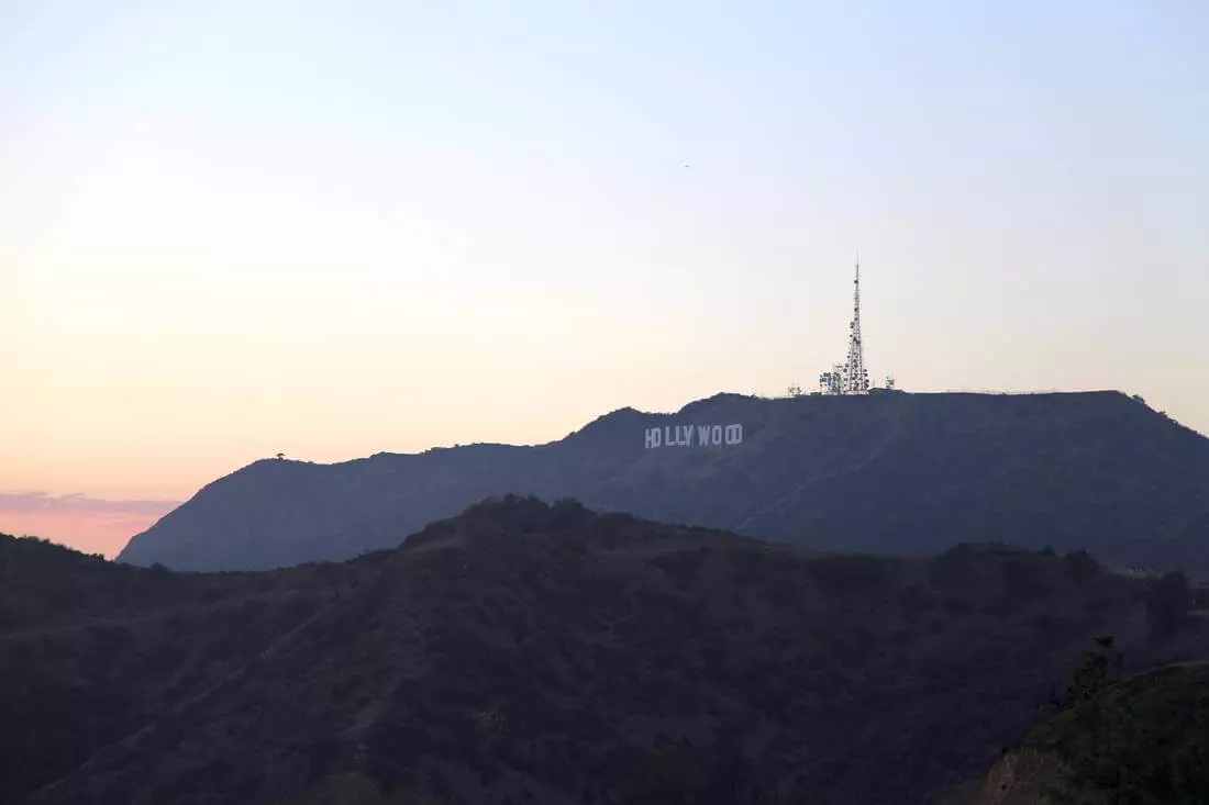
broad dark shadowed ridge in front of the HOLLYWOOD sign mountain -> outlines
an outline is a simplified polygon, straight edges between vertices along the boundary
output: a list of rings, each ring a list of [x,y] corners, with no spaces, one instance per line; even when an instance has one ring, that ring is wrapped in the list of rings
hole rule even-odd
[[[1093,636],[1209,656],[1086,554],[816,554],[511,496],[343,564],[0,558],[0,798],[41,805],[922,805]]]

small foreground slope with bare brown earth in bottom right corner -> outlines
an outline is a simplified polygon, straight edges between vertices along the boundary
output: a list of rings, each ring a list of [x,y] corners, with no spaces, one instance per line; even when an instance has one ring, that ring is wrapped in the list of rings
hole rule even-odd
[[[1149,670],[1034,729],[970,805],[1209,803],[1209,664]]]

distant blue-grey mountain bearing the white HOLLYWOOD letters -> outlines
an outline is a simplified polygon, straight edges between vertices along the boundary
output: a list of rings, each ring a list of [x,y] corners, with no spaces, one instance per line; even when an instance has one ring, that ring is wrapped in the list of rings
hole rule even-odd
[[[741,444],[644,446],[647,428],[730,423]],[[536,447],[261,461],[120,560],[214,571],[348,558],[508,492],[820,549],[1005,542],[1209,572],[1209,440],[1115,392],[718,395],[675,415],[617,411]]]

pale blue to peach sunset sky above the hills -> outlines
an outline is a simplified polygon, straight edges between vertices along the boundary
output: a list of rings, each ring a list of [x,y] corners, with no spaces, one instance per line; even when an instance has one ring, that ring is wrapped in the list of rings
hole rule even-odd
[[[0,0],[0,532],[874,381],[1209,433],[1199,0]]]

